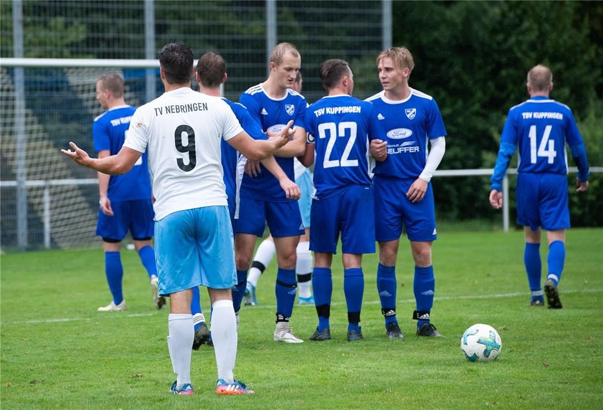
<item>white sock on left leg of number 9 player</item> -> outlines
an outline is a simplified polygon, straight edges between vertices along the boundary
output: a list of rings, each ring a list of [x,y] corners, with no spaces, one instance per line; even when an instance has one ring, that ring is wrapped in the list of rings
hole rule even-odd
[[[176,388],[191,383],[191,350],[195,338],[191,314],[168,315],[168,350],[176,374]]]

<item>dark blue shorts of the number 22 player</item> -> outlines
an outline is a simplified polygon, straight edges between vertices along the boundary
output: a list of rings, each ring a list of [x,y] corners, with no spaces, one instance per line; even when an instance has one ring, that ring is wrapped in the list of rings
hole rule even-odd
[[[373,188],[350,185],[320,200],[312,200],[310,249],[337,253],[341,232],[343,253],[374,253]]]

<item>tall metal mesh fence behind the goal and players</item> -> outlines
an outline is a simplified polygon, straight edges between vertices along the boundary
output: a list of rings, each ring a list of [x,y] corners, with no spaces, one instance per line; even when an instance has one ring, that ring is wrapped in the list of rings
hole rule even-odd
[[[265,79],[270,49],[283,41],[300,50],[308,101],[324,95],[318,67],[327,58],[350,62],[355,95],[365,98],[380,90],[374,58],[391,46],[391,1],[0,1],[0,246],[98,241],[95,186],[61,182],[95,174],[59,149],[68,140],[92,148],[92,119],[101,112],[93,86],[106,59],[119,60],[110,65],[137,106],[162,86],[157,69],[132,59],[155,60],[168,42],[197,56],[217,51],[228,64],[224,95],[237,101]],[[52,66],[44,58],[63,60]],[[67,60],[85,58],[105,63]]]

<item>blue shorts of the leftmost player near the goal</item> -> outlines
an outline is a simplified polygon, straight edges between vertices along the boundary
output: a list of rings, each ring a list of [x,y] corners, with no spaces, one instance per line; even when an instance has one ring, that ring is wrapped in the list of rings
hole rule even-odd
[[[153,237],[153,204],[151,200],[112,201],[113,216],[98,210],[96,235],[121,241],[130,230],[133,239]]]

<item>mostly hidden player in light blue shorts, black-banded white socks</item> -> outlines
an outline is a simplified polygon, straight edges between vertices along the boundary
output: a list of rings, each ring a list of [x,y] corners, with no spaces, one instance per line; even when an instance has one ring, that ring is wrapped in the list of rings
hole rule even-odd
[[[301,71],[297,73],[293,87],[294,91],[301,94],[301,84],[303,79]],[[314,185],[312,184],[312,172],[295,158],[293,160],[293,168],[295,172],[295,182],[300,187],[300,199],[297,203],[300,206],[301,222],[303,223],[305,233],[300,236],[300,242],[297,245],[297,263],[295,264],[295,272],[297,273],[297,293],[299,304],[314,304],[312,296],[312,252],[310,251],[310,207],[312,206],[312,192]],[[268,267],[268,263],[274,257],[276,249],[274,248],[274,240],[272,236],[264,239],[257,247],[249,276],[247,278],[247,289],[245,289],[245,305],[256,306],[256,288],[264,270]]]

